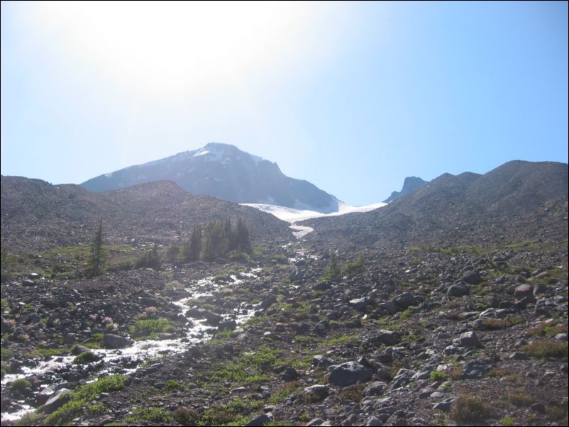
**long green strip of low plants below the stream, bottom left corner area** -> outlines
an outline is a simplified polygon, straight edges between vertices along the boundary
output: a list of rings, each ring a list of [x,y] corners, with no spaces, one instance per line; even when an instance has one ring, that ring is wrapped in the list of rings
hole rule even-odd
[[[111,375],[78,387],[73,392],[70,392],[69,400],[66,404],[45,418],[45,424],[51,426],[66,425],[76,414],[82,411],[84,406],[87,406],[89,401],[94,400],[101,393],[122,389],[127,379],[128,376],[126,375]]]

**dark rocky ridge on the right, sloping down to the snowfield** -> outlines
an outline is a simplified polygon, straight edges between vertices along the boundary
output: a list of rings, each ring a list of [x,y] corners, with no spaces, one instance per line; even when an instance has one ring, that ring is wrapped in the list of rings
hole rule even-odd
[[[442,174],[388,206],[299,223],[319,243],[477,245],[566,239],[568,165],[515,160],[486,174]]]

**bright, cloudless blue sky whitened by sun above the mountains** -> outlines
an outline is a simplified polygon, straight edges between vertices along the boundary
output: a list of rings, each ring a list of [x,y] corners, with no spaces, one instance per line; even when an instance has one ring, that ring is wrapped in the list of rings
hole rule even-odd
[[[228,143],[348,204],[568,162],[568,3],[1,2],[1,173]]]

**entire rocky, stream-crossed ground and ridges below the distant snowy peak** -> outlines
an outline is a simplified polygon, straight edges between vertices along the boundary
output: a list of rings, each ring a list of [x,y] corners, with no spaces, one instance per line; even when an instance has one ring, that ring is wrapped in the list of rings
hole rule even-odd
[[[174,182],[2,177],[1,209],[3,426],[568,424],[566,164],[299,239]]]

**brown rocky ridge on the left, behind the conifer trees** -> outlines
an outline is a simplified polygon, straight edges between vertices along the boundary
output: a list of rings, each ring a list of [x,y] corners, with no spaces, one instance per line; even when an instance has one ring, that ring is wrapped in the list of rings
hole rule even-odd
[[[192,196],[170,181],[92,193],[75,184],[1,177],[1,243],[11,252],[86,244],[99,218],[111,244],[170,243],[194,223],[243,218],[253,240],[288,239],[287,223],[248,206]]]

